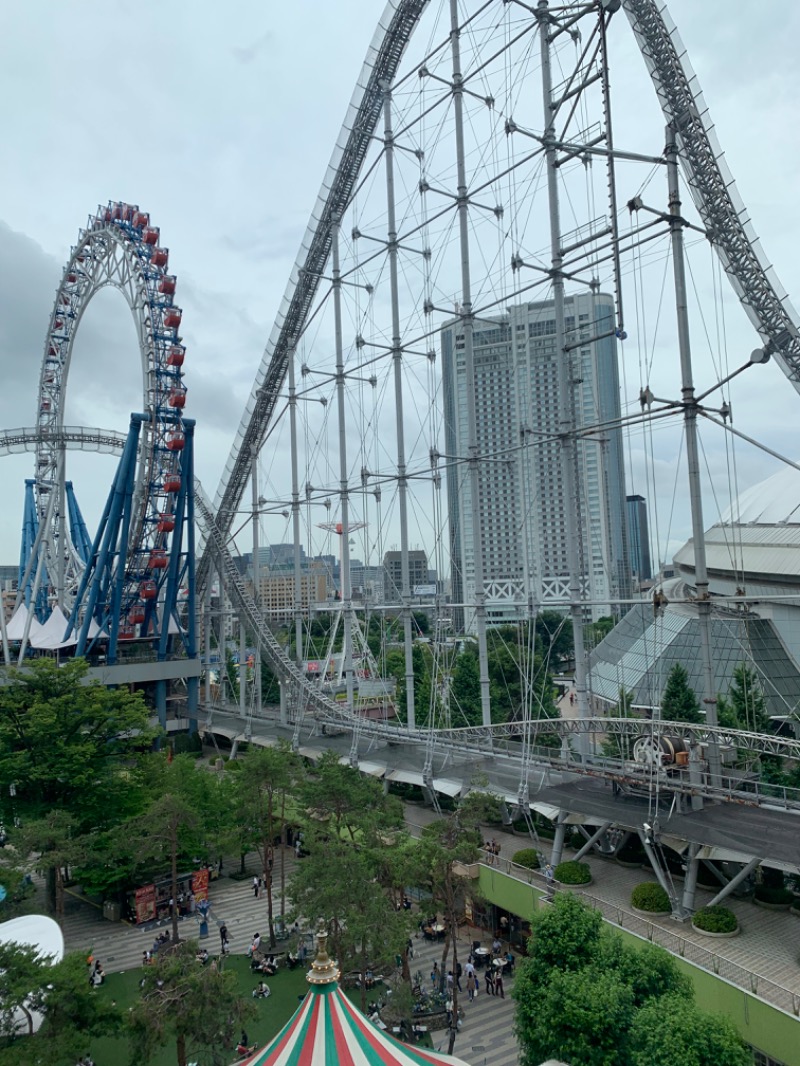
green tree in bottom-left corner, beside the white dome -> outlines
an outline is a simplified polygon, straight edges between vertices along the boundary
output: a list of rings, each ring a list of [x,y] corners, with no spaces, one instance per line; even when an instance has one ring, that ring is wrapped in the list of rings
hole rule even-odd
[[[15,1031],[19,1010],[26,1028]],[[31,1012],[43,1016],[35,1036]],[[27,944],[0,943],[0,1050],[2,1066],[73,1066],[86,1040],[118,1030],[119,1013],[97,997],[89,984],[81,952],[51,965],[48,956]]]

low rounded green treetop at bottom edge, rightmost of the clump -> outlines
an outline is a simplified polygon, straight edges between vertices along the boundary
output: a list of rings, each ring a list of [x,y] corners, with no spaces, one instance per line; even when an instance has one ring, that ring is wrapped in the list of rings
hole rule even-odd
[[[753,1062],[733,1022],[699,1011],[683,996],[662,996],[638,1011],[628,1046],[629,1066],[751,1066]]]

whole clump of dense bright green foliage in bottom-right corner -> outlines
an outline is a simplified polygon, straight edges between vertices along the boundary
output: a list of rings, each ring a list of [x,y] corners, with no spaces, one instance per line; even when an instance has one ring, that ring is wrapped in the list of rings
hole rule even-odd
[[[524,1066],[549,1057],[572,1066],[749,1061],[733,1027],[697,1008],[673,956],[654,944],[626,944],[599,911],[569,893],[534,916],[513,996]]]

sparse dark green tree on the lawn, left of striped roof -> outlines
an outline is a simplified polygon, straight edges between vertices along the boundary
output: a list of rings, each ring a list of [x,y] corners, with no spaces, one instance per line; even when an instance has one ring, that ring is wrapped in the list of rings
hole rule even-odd
[[[190,1054],[212,1066],[230,1062],[237,1031],[255,1014],[254,1005],[240,996],[235,973],[215,963],[201,966],[196,953],[196,942],[186,940],[159,952],[145,969],[128,1020],[133,1061],[147,1063],[174,1040],[178,1066],[187,1066]]]

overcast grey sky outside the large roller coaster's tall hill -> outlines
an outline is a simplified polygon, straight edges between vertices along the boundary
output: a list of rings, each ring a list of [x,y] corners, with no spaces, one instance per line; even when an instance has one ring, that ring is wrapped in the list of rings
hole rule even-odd
[[[197,472],[214,492],[382,7],[380,0],[6,5],[1,425],[34,422],[53,294],[87,214],[109,198],[135,203],[161,227],[178,275]],[[669,7],[766,254],[800,303],[800,5],[672,0]],[[629,35],[623,16],[615,21]],[[629,62],[640,60],[631,53]],[[617,83],[631,74],[638,78],[620,71]],[[652,92],[644,77],[641,85]],[[618,103],[635,124],[637,96],[628,95]],[[652,120],[651,108],[643,112]],[[141,408],[127,314],[114,293],[90,307],[67,423],[125,430]],[[742,358],[754,343],[753,334],[741,337]],[[752,375],[737,423],[800,455],[800,398],[774,366]],[[757,453],[741,463],[741,487],[775,469]],[[70,456],[90,529],[114,467],[110,458]],[[32,471],[31,455],[0,457],[0,563],[18,558],[22,486]]]

